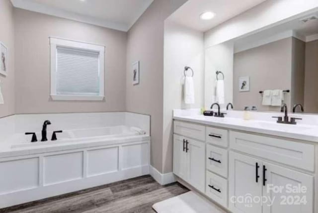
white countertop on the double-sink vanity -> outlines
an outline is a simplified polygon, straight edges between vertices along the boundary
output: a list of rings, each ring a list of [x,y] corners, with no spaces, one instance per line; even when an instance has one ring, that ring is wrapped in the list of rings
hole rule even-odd
[[[243,120],[237,117],[212,117],[204,115],[184,115],[175,113],[175,120],[211,125],[233,130],[249,131],[280,137],[288,137],[299,140],[318,142],[318,125],[308,124],[279,124],[268,120]]]

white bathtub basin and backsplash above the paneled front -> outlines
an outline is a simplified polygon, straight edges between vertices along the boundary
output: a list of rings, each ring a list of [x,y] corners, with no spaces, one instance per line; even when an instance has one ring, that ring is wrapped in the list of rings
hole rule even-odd
[[[63,132],[57,133],[55,142],[150,134],[150,116],[131,112],[17,114],[0,118],[0,152],[10,147],[26,147],[27,143],[30,146],[48,144],[40,141],[44,120],[52,123],[47,126],[48,142],[52,142],[51,135],[57,130]],[[31,143],[32,135],[25,132],[35,132],[38,142]]]

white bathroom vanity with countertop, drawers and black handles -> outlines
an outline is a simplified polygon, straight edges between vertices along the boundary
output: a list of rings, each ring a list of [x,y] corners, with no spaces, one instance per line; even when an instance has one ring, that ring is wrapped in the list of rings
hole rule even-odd
[[[317,213],[318,126],[306,124],[316,116],[288,125],[239,113],[174,110],[173,173],[234,213]]]

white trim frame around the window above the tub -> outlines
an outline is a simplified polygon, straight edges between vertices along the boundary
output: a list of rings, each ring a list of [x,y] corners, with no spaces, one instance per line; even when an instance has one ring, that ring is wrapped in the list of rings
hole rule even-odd
[[[50,58],[51,58],[51,98],[54,101],[103,101],[104,96],[104,57],[105,57],[105,46],[89,44],[81,41],[73,41],[56,37],[49,37],[50,39]],[[98,96],[70,96],[70,95],[57,95],[56,88],[56,57],[57,47],[73,47],[79,49],[87,49],[99,52],[99,95]]]

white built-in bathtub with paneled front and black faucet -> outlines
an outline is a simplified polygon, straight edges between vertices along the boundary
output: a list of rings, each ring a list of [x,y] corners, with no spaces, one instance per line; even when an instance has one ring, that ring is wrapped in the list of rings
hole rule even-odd
[[[68,117],[67,122],[59,116],[17,116],[12,125],[7,120],[1,124],[0,118],[0,126],[15,128],[7,130],[10,134],[0,141],[0,208],[150,174],[149,116],[61,114]],[[41,129],[38,120],[43,118],[52,122],[45,142],[40,141],[40,131],[32,131]],[[29,125],[22,125],[26,121]],[[60,126],[63,132],[51,141],[52,132]],[[36,132],[38,142],[32,143],[32,136],[24,134],[30,130]]]

